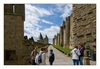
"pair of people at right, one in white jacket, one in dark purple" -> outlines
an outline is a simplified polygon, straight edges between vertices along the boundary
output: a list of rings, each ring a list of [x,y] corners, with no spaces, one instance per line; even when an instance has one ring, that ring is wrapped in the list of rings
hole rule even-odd
[[[83,65],[83,57],[84,57],[84,50],[85,44],[79,44],[79,46],[74,46],[72,53],[72,61],[73,65]]]

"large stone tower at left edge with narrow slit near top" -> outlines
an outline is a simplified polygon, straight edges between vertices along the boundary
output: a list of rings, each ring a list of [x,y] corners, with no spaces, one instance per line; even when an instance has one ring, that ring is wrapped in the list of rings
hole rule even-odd
[[[4,4],[4,64],[17,64],[24,36],[24,4]]]

